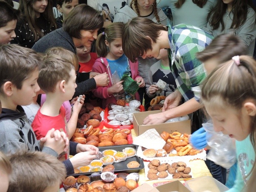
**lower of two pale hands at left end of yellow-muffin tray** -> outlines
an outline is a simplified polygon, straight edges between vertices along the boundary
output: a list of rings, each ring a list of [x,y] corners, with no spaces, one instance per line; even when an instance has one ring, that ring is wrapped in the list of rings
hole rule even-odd
[[[86,151],[79,152],[74,157],[71,157],[69,160],[71,161],[73,167],[86,166],[91,163],[92,160],[96,158],[95,151]]]

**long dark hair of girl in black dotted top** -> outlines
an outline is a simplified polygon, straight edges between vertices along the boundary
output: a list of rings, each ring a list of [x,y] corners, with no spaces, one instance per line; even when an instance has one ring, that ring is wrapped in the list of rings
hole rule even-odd
[[[20,0],[19,10],[23,14],[23,20],[27,21],[27,28],[31,30],[30,35],[34,35],[35,41],[44,36],[44,33],[41,31],[40,27],[36,23],[35,11],[33,9],[33,4],[38,0]],[[52,0],[48,0],[47,7],[45,8],[42,16],[50,22],[50,26],[54,26],[55,29],[57,25],[55,23],[55,18],[52,11]]]

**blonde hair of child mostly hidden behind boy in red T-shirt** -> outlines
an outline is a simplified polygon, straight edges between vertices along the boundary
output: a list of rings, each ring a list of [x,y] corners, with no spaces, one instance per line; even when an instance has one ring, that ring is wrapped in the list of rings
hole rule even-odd
[[[78,58],[72,51],[64,49],[63,47],[52,47],[47,49],[45,52],[48,56],[55,54],[61,56],[63,59],[70,61],[74,65],[75,70],[78,71]]]

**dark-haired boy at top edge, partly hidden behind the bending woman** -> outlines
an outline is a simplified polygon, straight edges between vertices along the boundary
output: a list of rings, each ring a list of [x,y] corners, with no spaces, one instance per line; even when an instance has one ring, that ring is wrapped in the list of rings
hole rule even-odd
[[[78,6],[78,4],[78,0],[57,0],[57,9],[62,13],[62,16],[56,19],[58,28],[62,27],[64,19],[74,7]]]

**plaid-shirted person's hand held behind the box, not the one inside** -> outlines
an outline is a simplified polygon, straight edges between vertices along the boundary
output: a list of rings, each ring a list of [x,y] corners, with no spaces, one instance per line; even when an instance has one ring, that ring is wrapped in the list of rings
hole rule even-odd
[[[180,104],[182,95],[178,89],[168,95],[164,100],[163,112],[169,109],[173,109]]]

